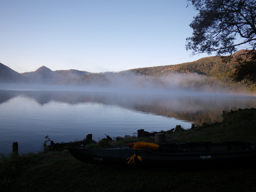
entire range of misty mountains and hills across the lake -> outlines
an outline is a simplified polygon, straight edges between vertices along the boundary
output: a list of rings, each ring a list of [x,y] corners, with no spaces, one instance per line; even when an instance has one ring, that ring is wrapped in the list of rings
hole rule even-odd
[[[189,88],[204,90],[207,87],[207,89],[210,88],[214,91],[218,87],[220,90],[232,89],[236,90],[236,92],[240,92],[243,89],[256,91],[253,84],[233,83],[228,78],[228,74],[237,65],[234,58],[244,55],[244,53],[246,53],[245,50],[236,52],[228,62],[223,60],[228,56],[210,56],[177,65],[133,68],[122,72],[102,73],[90,73],[74,69],[52,71],[50,68],[42,66],[34,72],[19,74],[1,63],[0,81],[37,84],[79,84],[82,86],[129,86],[130,88],[134,86],[142,88],[151,85],[172,88],[175,84],[175,86],[186,90]]]

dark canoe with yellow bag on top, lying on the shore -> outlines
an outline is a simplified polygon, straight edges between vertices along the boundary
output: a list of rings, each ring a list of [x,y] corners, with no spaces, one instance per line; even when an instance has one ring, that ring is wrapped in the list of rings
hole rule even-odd
[[[139,141],[124,148],[68,148],[68,150],[79,161],[91,164],[212,166],[253,163],[256,159],[256,143],[252,141],[207,141],[159,145]]]

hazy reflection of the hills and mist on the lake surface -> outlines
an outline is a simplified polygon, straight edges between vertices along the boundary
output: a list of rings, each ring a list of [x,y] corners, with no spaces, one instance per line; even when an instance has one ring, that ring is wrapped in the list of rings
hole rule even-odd
[[[255,108],[256,97],[241,95],[170,95],[122,92],[0,91],[0,104],[13,97],[26,97],[41,106],[49,102],[69,105],[86,102],[119,106],[153,115],[168,116],[202,124],[221,121],[224,110]]]

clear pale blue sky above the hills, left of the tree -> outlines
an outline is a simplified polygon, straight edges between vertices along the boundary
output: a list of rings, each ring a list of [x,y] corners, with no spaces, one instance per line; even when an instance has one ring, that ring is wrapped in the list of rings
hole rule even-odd
[[[0,63],[119,72],[196,61],[186,0],[0,0]]]

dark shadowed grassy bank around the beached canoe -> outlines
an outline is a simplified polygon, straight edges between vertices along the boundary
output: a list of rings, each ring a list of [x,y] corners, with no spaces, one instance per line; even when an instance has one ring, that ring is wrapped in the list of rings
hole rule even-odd
[[[254,109],[223,113],[223,117],[221,123],[174,131],[166,139],[256,141]],[[131,140],[97,145],[113,147]],[[251,167],[179,170],[170,165],[159,170],[97,166],[77,161],[67,150],[2,157],[0,163],[0,191],[256,191],[256,168]]]

